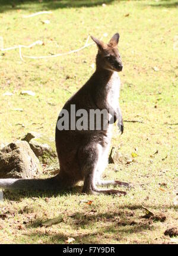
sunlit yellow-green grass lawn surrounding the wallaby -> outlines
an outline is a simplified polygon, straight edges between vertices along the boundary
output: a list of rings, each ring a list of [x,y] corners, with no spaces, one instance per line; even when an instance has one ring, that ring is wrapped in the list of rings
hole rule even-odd
[[[0,203],[0,214],[7,212],[5,219],[0,217],[1,244],[63,244],[68,237],[75,239],[74,244],[172,243],[164,231],[177,226],[178,219],[173,204],[178,184],[178,66],[173,48],[178,35],[177,1],[104,2],[106,7],[99,0],[0,1],[0,36],[4,48],[42,40],[43,46],[23,49],[24,55],[38,56],[80,48],[88,34],[107,33],[107,41],[119,31],[123,119],[142,123],[125,122],[121,137],[115,127],[112,146],[120,146],[120,152],[129,156],[136,148],[138,157],[130,165],[109,165],[104,179],[130,181],[135,188],[125,197],[84,195],[80,186],[55,195],[5,192],[5,201]],[[52,14],[23,18],[44,10]],[[44,20],[50,24],[43,24]],[[54,137],[59,110],[94,72],[91,64],[96,52],[91,46],[68,56],[24,62],[18,49],[1,52],[1,143],[29,131]],[[32,90],[36,96],[23,96],[21,90]],[[3,96],[6,91],[13,95]],[[83,199],[93,203],[80,203]],[[165,222],[142,218],[142,205],[155,214],[164,213]],[[39,226],[59,214],[63,222]]]

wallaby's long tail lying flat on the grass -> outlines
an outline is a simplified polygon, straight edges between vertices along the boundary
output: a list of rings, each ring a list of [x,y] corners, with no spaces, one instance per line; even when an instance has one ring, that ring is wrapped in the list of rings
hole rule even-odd
[[[0,188],[17,190],[61,190],[66,188],[61,175],[48,179],[0,179]]]

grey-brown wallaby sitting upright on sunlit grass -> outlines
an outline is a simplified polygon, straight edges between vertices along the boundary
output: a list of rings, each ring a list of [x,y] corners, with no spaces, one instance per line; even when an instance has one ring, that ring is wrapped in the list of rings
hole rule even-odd
[[[106,129],[101,128],[100,130],[96,129],[96,126],[92,130],[59,129],[58,122],[62,118],[59,115],[56,125],[59,174],[49,179],[0,179],[0,188],[60,190],[71,188],[78,181],[84,181],[82,192],[88,194],[126,194],[125,191],[97,188],[97,185],[129,187],[126,182],[102,181],[100,179],[108,162],[113,122],[118,120],[120,131],[123,132],[123,120],[118,102],[120,79],[117,72],[122,71],[123,68],[117,49],[119,34],[116,33],[108,44],[93,36],[91,39],[98,47],[96,71],[87,83],[65,103],[63,110],[67,110],[72,115],[71,106],[75,106],[76,111],[84,109],[87,113],[91,109],[106,109],[108,119],[109,110],[112,110],[112,124],[107,121]],[[71,120],[69,120],[70,125]],[[106,124],[106,120],[104,122]]]

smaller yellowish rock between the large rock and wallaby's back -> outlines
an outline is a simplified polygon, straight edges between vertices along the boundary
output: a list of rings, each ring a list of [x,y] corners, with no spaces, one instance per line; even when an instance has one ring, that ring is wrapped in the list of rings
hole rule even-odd
[[[22,138],[29,143],[31,150],[42,161],[42,163],[52,162],[57,157],[55,141],[52,138],[46,138],[37,132],[28,132]]]

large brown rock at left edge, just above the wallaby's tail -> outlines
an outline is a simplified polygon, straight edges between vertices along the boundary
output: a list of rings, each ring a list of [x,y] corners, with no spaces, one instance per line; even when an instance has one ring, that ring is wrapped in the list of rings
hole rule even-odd
[[[16,141],[0,150],[0,178],[31,179],[40,173],[39,160],[26,141]]]

